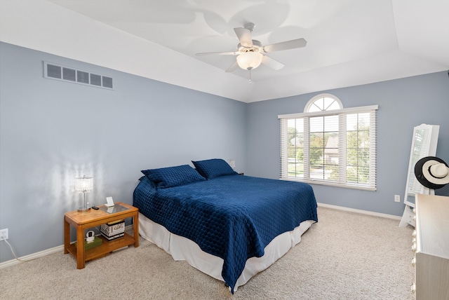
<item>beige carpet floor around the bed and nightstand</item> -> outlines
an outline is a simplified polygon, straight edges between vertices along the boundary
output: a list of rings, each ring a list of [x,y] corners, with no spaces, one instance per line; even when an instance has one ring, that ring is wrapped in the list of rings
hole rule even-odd
[[[0,299],[413,299],[413,228],[319,207],[319,223],[232,295],[140,238],[76,269],[62,252],[0,269]]]

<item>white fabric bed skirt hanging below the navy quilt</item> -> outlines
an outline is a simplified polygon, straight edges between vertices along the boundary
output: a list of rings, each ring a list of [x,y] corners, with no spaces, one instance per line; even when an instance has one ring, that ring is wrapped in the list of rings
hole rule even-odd
[[[276,260],[286,254],[290,248],[300,243],[302,233],[307,231],[314,221],[303,221],[293,231],[276,236],[264,249],[262,257],[251,257],[246,261],[245,268],[236,282],[234,291],[244,285],[251,277],[274,264]],[[170,254],[175,261],[185,260],[199,271],[213,278],[223,280],[223,259],[203,252],[199,245],[188,238],[170,233],[164,226],[155,223],[139,212],[139,234],[142,238],[156,244]]]

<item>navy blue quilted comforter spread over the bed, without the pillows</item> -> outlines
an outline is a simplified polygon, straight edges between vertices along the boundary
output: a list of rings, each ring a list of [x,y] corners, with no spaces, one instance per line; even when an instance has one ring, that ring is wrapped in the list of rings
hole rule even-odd
[[[171,233],[221,257],[222,277],[232,293],[247,259],[262,257],[273,238],[302,221],[318,221],[309,184],[241,175],[168,189],[155,189],[142,177],[133,205]]]

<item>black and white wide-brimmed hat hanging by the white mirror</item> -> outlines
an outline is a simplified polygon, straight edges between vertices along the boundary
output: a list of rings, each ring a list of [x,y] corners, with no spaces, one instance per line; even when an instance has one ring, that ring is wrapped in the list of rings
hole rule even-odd
[[[423,186],[441,189],[449,184],[448,164],[435,156],[421,158],[415,165],[415,176]]]

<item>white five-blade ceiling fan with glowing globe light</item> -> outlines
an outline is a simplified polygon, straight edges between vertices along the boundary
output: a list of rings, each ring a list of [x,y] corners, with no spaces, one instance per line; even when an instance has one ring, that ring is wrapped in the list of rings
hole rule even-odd
[[[254,23],[247,23],[244,28],[234,28],[234,32],[240,42],[239,45],[237,45],[237,51],[196,53],[196,55],[237,55],[236,62],[226,70],[227,72],[232,72],[237,67],[251,71],[252,69],[259,67],[261,63],[266,64],[272,69],[279,70],[284,67],[284,64],[267,56],[267,53],[302,48],[307,44],[305,39],[293,39],[291,41],[283,41],[281,43],[262,46],[260,41],[251,39],[251,32],[253,32],[254,27]]]

